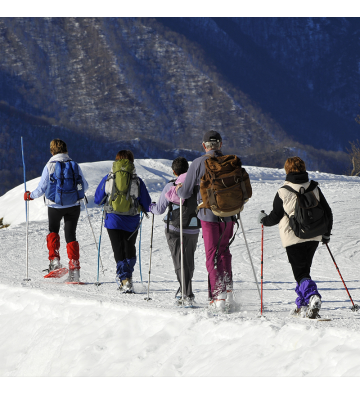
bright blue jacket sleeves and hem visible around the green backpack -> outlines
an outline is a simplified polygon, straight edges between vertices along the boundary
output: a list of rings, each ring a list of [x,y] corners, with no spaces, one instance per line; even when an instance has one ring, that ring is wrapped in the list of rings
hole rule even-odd
[[[105,182],[107,180],[107,175],[101,180],[100,184],[96,188],[94,202],[95,204],[100,204],[101,201],[106,196],[105,193]],[[139,177],[140,180],[140,195],[139,203],[143,207],[144,212],[148,212],[149,206],[151,204],[151,198],[149,192],[144,184],[144,181]],[[138,227],[140,222],[140,215],[119,215],[106,213],[105,216],[105,228],[107,229],[121,229],[127,232],[134,232]]]

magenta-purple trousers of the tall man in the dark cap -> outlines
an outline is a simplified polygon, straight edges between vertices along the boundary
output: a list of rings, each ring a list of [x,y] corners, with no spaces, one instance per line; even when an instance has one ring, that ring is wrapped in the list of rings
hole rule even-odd
[[[231,254],[226,249],[229,240],[233,235],[234,222],[227,222],[226,228],[223,222],[206,222],[201,221],[201,228],[204,238],[206,269],[209,273],[210,297],[216,298],[220,293],[232,289],[232,270]],[[224,231],[225,229],[225,231]],[[221,243],[219,246],[217,269],[214,268],[214,258],[216,247],[220,236]]]

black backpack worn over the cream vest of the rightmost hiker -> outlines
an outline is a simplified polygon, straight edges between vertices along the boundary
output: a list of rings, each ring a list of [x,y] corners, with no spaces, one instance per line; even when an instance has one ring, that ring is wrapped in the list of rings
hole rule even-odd
[[[289,218],[290,228],[294,231],[295,236],[300,239],[322,236],[329,230],[329,220],[326,212],[314,193],[317,185],[317,182],[311,181],[306,190],[301,187],[299,192],[288,185],[282,187],[296,195],[294,214],[291,216],[286,212],[285,214]]]

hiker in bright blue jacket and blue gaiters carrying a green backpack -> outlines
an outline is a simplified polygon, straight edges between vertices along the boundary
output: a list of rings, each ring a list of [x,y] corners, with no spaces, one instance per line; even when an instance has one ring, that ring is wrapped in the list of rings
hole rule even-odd
[[[125,160],[125,161],[122,161]],[[119,151],[116,155],[115,162],[113,165],[116,166],[117,161],[122,163],[134,163],[134,154],[128,150]],[[133,167],[133,166],[132,166]],[[120,173],[118,171],[117,173]],[[109,234],[111,246],[114,252],[114,258],[116,262],[116,280],[120,284],[120,289],[125,293],[134,293],[132,284],[132,273],[136,263],[136,238],[140,225],[140,210],[147,213],[148,208],[151,204],[151,198],[149,192],[143,182],[135,173],[135,167],[131,174],[131,179],[134,184],[131,184],[131,193],[133,195],[127,196],[132,198],[132,208],[128,212],[117,212],[113,204],[109,200],[111,199],[112,183],[116,182],[116,173],[111,172],[106,175],[98,185],[95,192],[95,204],[105,204],[105,228]],[[118,175],[119,177],[119,175]],[[137,185],[134,193],[133,185]],[[129,187],[130,188],[130,187]],[[109,199],[110,197],[110,199]],[[134,209],[135,207],[135,209]]]

